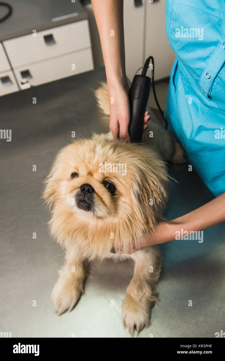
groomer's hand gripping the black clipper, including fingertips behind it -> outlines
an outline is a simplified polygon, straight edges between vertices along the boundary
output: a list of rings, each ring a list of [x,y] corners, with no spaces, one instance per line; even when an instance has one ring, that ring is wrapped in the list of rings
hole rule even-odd
[[[129,106],[129,86],[127,81],[116,84],[110,84],[108,80],[109,97],[110,97],[110,122],[109,127],[114,139],[122,139],[130,142],[128,127],[130,121],[130,106]],[[146,110],[143,119],[143,131],[147,128],[147,122],[150,119],[149,112]]]

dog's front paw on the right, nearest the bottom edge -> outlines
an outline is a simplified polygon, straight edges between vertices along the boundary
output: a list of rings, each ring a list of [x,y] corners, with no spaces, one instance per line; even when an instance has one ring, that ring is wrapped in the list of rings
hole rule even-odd
[[[124,328],[127,326],[132,337],[135,329],[138,335],[145,326],[149,326],[150,313],[150,304],[145,305],[139,303],[132,296],[126,295],[122,308],[122,322]]]

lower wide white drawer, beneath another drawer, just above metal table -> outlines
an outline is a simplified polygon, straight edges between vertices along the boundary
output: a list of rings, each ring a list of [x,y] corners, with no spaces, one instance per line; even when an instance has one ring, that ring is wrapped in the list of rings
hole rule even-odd
[[[75,70],[72,70],[72,64],[75,64]],[[14,69],[14,72],[21,89],[26,89],[29,87],[29,84],[31,86],[40,85],[92,69],[92,51],[89,48],[59,56],[58,58],[41,61],[38,64],[31,64],[27,67],[23,66]]]

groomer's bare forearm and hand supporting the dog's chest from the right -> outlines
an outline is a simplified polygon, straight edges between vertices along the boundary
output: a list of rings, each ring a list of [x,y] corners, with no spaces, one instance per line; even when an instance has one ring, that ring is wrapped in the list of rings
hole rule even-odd
[[[225,221],[225,193],[212,201],[172,221],[160,221],[158,227],[151,234],[142,237],[142,246],[139,249],[169,242],[175,239],[176,232],[203,231]],[[129,254],[137,251],[135,244],[129,249]],[[123,253],[121,250],[118,253]]]

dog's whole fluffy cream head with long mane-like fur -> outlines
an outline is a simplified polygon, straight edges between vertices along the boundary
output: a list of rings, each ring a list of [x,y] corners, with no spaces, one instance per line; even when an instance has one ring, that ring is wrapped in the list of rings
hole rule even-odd
[[[86,248],[131,242],[158,220],[166,182],[163,162],[143,145],[78,140],[58,153],[46,181],[52,233],[62,243],[82,238]]]

